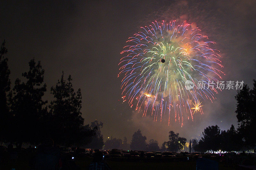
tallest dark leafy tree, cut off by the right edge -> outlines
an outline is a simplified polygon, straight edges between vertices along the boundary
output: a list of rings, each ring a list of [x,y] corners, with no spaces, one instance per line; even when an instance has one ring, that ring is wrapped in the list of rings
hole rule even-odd
[[[241,90],[237,91],[235,98],[237,130],[244,140],[244,145],[256,151],[256,80],[253,80],[252,89],[244,85]]]

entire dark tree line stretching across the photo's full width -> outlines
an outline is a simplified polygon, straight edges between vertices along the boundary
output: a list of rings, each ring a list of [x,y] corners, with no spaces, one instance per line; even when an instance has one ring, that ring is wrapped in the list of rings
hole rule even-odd
[[[11,88],[7,52],[4,41],[0,49],[0,141],[21,147],[24,142],[39,144],[46,138],[52,138],[63,146],[101,149],[104,146],[100,131],[103,123],[95,120],[84,124],[81,89],[75,92],[71,75],[66,80],[62,72],[60,79],[50,88],[53,100],[48,102],[43,98],[47,86],[40,61],[31,59],[28,71],[22,73],[22,78],[17,78]],[[256,80],[253,82],[252,89],[244,85],[235,96],[238,128],[231,125],[227,131],[220,131],[217,125],[207,127],[199,141],[192,140],[194,151],[256,152]],[[187,141],[173,131],[169,132],[169,141],[164,142],[161,148],[156,140],[151,139],[147,144],[146,139],[138,129],[130,144],[126,137],[123,141],[111,137],[106,140],[104,148],[178,152]]]

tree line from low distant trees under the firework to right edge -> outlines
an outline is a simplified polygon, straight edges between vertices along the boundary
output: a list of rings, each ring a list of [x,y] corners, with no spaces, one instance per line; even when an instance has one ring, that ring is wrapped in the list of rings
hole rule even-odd
[[[253,151],[256,152],[256,80],[253,80],[253,88],[250,89],[248,85],[244,85],[242,89],[237,91],[235,96],[236,117],[238,128],[231,125],[230,129],[220,130],[218,125],[208,126],[202,132],[203,137],[198,141],[192,140],[192,148],[195,152],[242,152]],[[147,137],[143,136],[141,130],[137,130],[132,135],[130,144],[131,150],[143,151],[171,151],[179,152],[185,147],[187,139],[180,137],[179,133],[174,131],[169,132],[169,140],[165,141],[161,148],[158,142],[154,139],[146,142]],[[127,148],[127,139],[122,142],[121,139],[112,138],[107,139],[105,147],[122,149]],[[191,141],[190,149],[191,152]]]

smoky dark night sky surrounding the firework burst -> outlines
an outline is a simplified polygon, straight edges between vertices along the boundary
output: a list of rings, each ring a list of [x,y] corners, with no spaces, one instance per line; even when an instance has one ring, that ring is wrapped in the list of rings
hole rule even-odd
[[[128,103],[122,103],[117,78],[120,52],[128,37],[152,21],[187,20],[196,24],[220,50],[223,80],[244,81],[252,87],[256,79],[256,1],[6,1],[0,2],[0,41],[5,39],[12,85],[35,57],[45,70],[49,102],[50,87],[60,79],[73,77],[75,90],[81,88],[85,123],[103,122],[107,137],[131,140],[141,129],[159,145],[168,132],[201,138],[209,125],[227,130],[237,127],[236,90],[223,90],[216,100],[204,101],[204,115],[192,123],[153,122],[143,118]],[[120,100],[120,101],[119,101]],[[200,136],[199,136],[200,135]]]

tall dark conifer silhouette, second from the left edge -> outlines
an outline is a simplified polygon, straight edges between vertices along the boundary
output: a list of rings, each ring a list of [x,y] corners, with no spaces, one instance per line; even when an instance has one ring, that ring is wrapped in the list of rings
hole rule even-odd
[[[42,117],[47,113],[43,100],[46,85],[44,84],[44,69],[40,61],[30,60],[28,72],[22,73],[27,80],[22,82],[16,79],[11,100],[11,113],[13,115],[12,133],[10,141],[38,143],[44,131]]]

